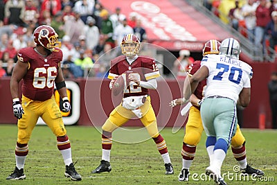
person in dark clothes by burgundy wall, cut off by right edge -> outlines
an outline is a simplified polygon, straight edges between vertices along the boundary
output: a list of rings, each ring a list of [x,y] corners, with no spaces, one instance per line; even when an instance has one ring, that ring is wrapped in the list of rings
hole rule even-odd
[[[268,83],[268,89],[272,128],[277,129],[277,71],[271,73],[271,80]]]

